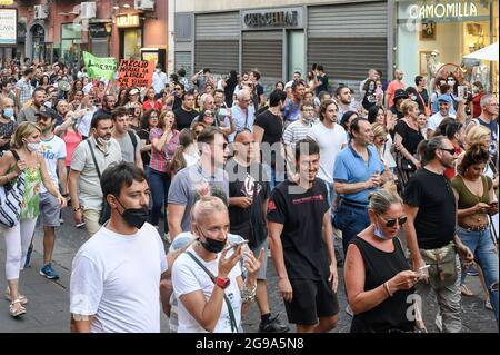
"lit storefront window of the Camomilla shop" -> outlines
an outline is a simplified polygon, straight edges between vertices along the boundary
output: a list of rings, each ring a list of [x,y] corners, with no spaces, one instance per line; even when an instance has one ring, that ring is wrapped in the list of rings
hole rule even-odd
[[[463,58],[494,41],[498,1],[398,1],[396,66],[408,86],[421,75],[432,90],[437,75],[453,72],[461,82],[480,80],[498,91],[498,61]]]

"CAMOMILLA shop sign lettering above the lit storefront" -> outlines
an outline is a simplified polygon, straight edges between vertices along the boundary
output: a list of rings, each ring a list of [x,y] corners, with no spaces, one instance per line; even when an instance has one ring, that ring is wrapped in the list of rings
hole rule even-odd
[[[471,1],[412,4],[408,8],[411,19],[443,19],[477,17],[478,8]]]

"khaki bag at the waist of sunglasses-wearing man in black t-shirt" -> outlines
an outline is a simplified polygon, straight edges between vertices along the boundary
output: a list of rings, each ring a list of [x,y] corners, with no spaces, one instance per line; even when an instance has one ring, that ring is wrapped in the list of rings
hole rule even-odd
[[[436,289],[451,286],[458,277],[453,241],[438,249],[420,249],[423,262],[430,265],[429,282]]]

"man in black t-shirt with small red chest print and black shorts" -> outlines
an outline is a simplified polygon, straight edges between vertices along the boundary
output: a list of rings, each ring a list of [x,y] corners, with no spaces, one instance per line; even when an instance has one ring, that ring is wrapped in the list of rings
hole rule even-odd
[[[323,333],[337,326],[338,275],[327,188],[317,178],[316,141],[297,142],[296,165],[297,181],[286,180],[272,191],[269,241],[288,321],[299,333]]]

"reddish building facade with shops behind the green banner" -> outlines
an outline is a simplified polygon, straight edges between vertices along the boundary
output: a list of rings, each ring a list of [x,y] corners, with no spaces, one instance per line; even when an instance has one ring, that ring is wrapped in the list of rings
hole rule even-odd
[[[0,51],[3,59],[80,62],[84,50],[117,59],[149,55],[167,63],[167,0],[18,0],[12,7],[18,43]]]

